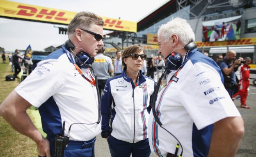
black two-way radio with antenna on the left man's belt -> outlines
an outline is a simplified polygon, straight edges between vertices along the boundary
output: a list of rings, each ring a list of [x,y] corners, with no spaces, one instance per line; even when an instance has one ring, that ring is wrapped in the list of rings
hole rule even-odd
[[[64,136],[65,121],[63,122],[62,135],[54,137],[53,157],[64,157],[64,148],[68,146],[69,137]]]

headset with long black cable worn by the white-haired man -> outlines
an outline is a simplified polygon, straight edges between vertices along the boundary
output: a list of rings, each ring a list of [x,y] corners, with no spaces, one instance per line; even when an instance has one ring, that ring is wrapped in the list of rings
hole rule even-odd
[[[158,83],[153,91],[153,99],[152,99],[152,102],[151,102],[151,106],[152,106],[152,113],[153,113],[153,116],[155,118],[155,120],[158,122],[158,124],[160,125],[161,128],[165,129],[164,127],[162,127],[162,123],[160,122],[160,119],[158,119],[156,113],[155,113],[155,101],[156,101],[156,96],[158,94],[158,91],[159,91],[159,87],[160,87],[160,83],[162,81],[162,78],[164,77],[165,73],[167,70],[178,70],[181,68],[182,65],[184,65],[186,63],[186,61],[188,60],[188,53],[189,51],[197,48],[197,44],[195,44],[194,42],[189,42],[188,44],[186,44],[185,46],[181,47],[181,48],[178,48],[178,49],[185,49],[187,51],[187,53],[185,54],[185,58],[184,58],[184,62],[183,62],[183,58],[181,56],[181,54],[179,53],[176,53],[176,52],[171,52],[165,59],[166,59],[166,62],[165,62],[165,66],[156,66],[157,69],[162,69],[164,68],[165,71],[162,73],[161,77],[159,78],[158,80]],[[174,49],[175,50],[175,49]],[[174,75],[173,75],[174,77]],[[178,148],[179,146],[181,146],[181,155],[179,157],[182,157],[182,154],[183,154],[183,147],[181,145],[181,142],[179,142],[179,140],[172,134],[170,133],[167,129],[165,129],[169,134],[171,134],[177,141],[178,141],[178,144],[176,145],[176,151],[175,151],[175,154],[171,154],[171,153],[168,153],[167,154],[167,157],[176,157],[177,153],[178,153]]]

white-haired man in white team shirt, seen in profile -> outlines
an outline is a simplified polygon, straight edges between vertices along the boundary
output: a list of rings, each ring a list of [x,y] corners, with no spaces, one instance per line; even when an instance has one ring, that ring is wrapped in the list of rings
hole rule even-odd
[[[233,157],[244,133],[243,120],[215,61],[197,48],[185,46],[194,38],[190,25],[181,18],[158,30],[158,53],[165,60],[180,54],[183,63],[169,73],[167,86],[158,93],[151,110],[151,151],[159,157]]]

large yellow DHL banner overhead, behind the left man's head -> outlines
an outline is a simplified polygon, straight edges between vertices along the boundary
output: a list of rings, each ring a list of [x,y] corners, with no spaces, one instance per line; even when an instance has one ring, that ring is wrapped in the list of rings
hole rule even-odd
[[[30,4],[0,0],[0,16],[43,21],[56,24],[69,24],[76,12],[40,7]],[[101,16],[104,29],[137,32],[137,22]]]

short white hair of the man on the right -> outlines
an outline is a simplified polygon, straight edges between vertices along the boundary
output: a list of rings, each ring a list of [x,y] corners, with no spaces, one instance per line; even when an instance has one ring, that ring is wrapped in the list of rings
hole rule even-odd
[[[165,38],[165,42],[174,34],[178,36],[178,39],[183,44],[188,44],[195,40],[195,35],[190,24],[187,20],[178,17],[171,19],[166,24],[162,24],[158,29],[158,37],[160,33]]]

